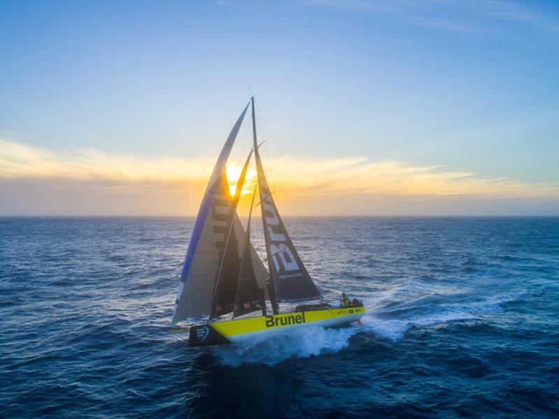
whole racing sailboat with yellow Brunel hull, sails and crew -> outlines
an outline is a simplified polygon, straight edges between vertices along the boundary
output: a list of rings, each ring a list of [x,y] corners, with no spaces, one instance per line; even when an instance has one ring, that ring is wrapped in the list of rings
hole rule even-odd
[[[254,146],[231,196],[226,163],[249,105],[252,108]],[[237,206],[253,154],[258,179],[245,230]],[[255,205],[256,190],[259,202]],[[268,269],[250,241],[252,212],[256,207],[261,210]],[[279,216],[273,193],[270,193],[256,139],[252,97],[219,154],[184,258],[172,324],[176,327],[178,322],[187,319],[201,324],[174,330],[189,331],[189,346],[208,346],[238,343],[308,325],[341,327],[360,321],[365,315],[363,304],[357,300],[351,304],[345,295],[338,307],[315,302],[280,312],[280,302],[308,302],[321,298]]]

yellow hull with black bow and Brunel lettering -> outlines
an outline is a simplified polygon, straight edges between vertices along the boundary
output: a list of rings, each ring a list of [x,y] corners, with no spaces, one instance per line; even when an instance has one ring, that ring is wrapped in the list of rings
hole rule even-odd
[[[189,346],[231,344],[256,337],[256,335],[301,328],[305,325],[337,328],[358,321],[363,316],[365,316],[365,307],[344,307],[296,311],[275,316],[237,318],[193,326],[190,328]]]

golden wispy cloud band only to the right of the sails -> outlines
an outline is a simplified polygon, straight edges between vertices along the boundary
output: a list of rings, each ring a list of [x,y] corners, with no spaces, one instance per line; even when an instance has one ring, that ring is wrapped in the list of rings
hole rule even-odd
[[[297,161],[293,176],[310,196],[343,196],[382,193],[406,196],[457,196],[477,198],[551,197],[558,186],[518,182],[510,177],[484,178],[474,172],[449,170],[444,166],[410,166],[400,161],[339,159]],[[279,166],[282,167],[282,166]],[[292,191],[289,177],[272,171],[280,187]]]

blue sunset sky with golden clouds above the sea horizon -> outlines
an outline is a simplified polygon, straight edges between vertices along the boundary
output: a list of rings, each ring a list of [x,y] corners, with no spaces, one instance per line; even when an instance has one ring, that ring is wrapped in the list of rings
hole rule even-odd
[[[559,1],[3,0],[0,215],[195,215],[251,92],[284,215],[559,214]]]

